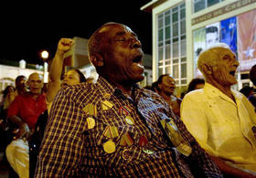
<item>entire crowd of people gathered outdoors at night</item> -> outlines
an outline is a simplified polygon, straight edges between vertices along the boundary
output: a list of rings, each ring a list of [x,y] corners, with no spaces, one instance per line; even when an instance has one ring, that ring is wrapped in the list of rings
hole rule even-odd
[[[59,40],[46,92],[38,73],[4,91],[2,143],[17,176],[256,177],[255,95],[231,89],[239,62],[228,45],[200,52],[204,79],[179,98],[169,74],[137,84],[144,53],[129,26],[107,23],[89,38],[97,82],[76,68],[62,76],[73,44]]]

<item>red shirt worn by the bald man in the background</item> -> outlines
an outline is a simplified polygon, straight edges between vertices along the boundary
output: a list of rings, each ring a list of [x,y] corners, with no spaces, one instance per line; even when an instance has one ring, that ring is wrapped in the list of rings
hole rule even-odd
[[[30,129],[34,129],[39,115],[47,110],[46,98],[40,95],[37,100],[30,93],[17,95],[9,107],[7,117],[16,115],[25,121]]]

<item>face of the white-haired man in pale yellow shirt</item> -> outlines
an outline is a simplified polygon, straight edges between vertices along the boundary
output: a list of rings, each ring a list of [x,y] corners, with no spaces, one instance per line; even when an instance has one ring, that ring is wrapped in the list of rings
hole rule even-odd
[[[220,48],[219,58],[213,65],[213,78],[222,86],[230,87],[237,83],[235,74],[239,62],[235,54],[228,48]]]

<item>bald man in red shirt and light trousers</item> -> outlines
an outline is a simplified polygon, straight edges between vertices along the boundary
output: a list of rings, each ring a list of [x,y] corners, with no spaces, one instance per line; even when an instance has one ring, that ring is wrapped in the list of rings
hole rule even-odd
[[[47,110],[45,96],[42,95],[43,77],[32,73],[27,85],[29,91],[16,96],[7,113],[7,120],[18,128],[16,139],[6,148],[6,157],[19,177],[28,177],[29,156],[27,138],[34,131],[38,116]]]

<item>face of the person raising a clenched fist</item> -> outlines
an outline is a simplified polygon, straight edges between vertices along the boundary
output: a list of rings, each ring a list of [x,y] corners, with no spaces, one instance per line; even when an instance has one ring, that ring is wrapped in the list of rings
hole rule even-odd
[[[80,75],[76,70],[69,70],[67,73],[64,75],[64,79],[61,83],[61,88],[71,86],[71,85],[76,85],[80,83]]]

